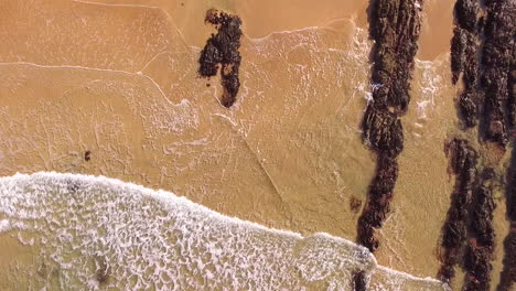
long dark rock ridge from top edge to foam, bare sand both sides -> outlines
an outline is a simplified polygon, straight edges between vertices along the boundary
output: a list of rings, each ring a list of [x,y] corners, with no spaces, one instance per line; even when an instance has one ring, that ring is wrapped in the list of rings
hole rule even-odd
[[[373,46],[372,94],[362,122],[363,141],[377,154],[375,176],[358,218],[357,242],[374,252],[398,179],[397,157],[404,149],[400,117],[407,112],[409,88],[421,29],[422,0],[372,0],[369,34]],[[354,289],[365,290],[366,276],[354,277]]]

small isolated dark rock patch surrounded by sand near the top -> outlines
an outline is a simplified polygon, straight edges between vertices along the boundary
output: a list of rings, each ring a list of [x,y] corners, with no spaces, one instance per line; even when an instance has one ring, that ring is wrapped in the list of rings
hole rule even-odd
[[[213,77],[221,71],[224,88],[221,104],[229,108],[235,103],[240,88],[238,69],[241,56],[238,48],[241,20],[237,15],[211,9],[206,12],[205,22],[215,25],[217,34],[212,34],[201,52],[198,74],[202,77]]]

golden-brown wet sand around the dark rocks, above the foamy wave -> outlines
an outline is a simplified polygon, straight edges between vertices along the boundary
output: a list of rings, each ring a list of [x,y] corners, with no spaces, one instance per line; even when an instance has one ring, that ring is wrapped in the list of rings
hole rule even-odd
[[[355,239],[359,212],[350,203],[364,205],[375,169],[358,132],[369,91],[367,1],[97,2],[0,4],[1,175],[103,174],[266,226]],[[230,110],[218,104],[219,80],[196,73],[213,7],[244,22]],[[406,148],[376,254],[419,277],[439,269],[453,186],[443,151],[458,131],[452,7],[423,4]],[[497,247],[497,269],[502,258]]]

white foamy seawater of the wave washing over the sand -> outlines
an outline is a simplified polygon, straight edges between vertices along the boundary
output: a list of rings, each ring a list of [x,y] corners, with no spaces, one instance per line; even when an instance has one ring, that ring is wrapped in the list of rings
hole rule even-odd
[[[2,290],[351,290],[357,271],[373,274],[372,290],[444,288],[378,267],[342,238],[267,228],[104,176],[1,177],[0,244],[8,238],[32,258],[10,262]]]

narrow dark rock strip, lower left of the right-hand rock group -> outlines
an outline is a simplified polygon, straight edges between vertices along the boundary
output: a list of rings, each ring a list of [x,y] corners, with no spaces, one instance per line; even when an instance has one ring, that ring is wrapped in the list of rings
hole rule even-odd
[[[466,140],[453,139],[447,144],[451,171],[455,175],[455,190],[442,228],[441,269],[439,278],[450,282],[454,277],[453,267],[461,262],[462,248],[467,236],[467,209],[471,204],[476,180],[476,151]]]

